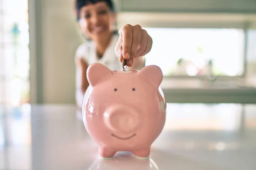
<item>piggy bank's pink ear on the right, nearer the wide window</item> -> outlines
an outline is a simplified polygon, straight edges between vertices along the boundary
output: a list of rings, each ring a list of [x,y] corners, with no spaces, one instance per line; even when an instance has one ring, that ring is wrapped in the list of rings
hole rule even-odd
[[[150,82],[155,88],[158,88],[163,80],[163,72],[156,65],[148,65],[143,67],[138,72],[138,75]]]

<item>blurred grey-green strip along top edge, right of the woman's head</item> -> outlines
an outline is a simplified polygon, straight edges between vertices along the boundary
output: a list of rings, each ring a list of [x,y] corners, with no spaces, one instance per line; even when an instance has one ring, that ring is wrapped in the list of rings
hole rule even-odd
[[[121,11],[256,12],[255,0],[119,0]]]

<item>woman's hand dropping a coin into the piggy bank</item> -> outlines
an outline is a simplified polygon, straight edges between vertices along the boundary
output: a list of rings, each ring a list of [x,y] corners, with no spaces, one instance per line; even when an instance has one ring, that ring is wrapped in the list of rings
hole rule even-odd
[[[115,46],[115,53],[120,62],[122,62],[123,58],[127,59],[126,65],[131,67],[134,57],[148,54],[152,43],[152,38],[140,25],[131,26],[127,24],[121,29],[119,40]]]

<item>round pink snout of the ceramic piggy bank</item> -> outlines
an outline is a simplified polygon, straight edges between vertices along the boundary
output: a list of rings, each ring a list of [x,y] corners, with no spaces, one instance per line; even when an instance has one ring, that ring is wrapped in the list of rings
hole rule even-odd
[[[105,124],[113,131],[131,133],[140,125],[137,111],[125,106],[112,106],[104,113]]]

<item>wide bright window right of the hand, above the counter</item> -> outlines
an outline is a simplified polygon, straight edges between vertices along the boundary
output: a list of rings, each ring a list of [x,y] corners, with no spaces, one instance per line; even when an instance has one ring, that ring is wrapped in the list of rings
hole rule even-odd
[[[146,65],[164,76],[241,76],[244,73],[243,29],[145,28],[153,38]]]

